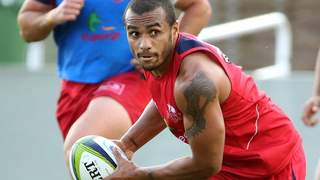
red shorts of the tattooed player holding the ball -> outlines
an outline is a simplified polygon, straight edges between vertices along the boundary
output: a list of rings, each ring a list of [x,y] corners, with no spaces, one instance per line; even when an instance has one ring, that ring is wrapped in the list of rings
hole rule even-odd
[[[254,166],[254,165],[253,165]],[[246,178],[228,172],[220,172],[209,180],[305,180],[306,157],[302,145],[293,154],[289,164],[278,174],[269,178]]]

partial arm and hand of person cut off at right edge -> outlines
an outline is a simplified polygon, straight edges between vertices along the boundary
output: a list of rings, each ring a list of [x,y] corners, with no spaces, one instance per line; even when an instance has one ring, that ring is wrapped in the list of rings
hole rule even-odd
[[[302,110],[302,120],[306,125],[313,126],[319,119],[312,119],[320,107],[320,48],[316,61],[315,80],[311,97],[306,101]]]

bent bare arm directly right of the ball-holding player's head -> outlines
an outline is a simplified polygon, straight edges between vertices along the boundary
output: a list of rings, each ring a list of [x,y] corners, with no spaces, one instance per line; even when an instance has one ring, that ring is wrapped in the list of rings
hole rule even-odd
[[[198,0],[183,9],[179,17],[179,31],[198,35],[210,20],[211,5],[207,0]]]

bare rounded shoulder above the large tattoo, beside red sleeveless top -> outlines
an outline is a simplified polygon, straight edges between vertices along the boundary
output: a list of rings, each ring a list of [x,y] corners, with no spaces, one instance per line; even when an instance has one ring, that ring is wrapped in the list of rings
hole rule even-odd
[[[231,83],[219,62],[203,51],[196,51],[187,55],[181,63],[175,83],[175,97],[183,98],[183,94],[190,87],[195,89],[215,87],[219,101],[224,102],[230,94]]]

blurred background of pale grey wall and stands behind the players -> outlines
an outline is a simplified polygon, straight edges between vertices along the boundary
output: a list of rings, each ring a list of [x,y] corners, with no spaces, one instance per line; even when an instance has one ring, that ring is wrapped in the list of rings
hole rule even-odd
[[[280,33],[279,26],[275,25],[242,35],[209,39],[208,42],[222,49],[232,62],[243,66],[249,74],[275,64],[279,52],[290,53],[289,63],[286,63],[290,72],[277,76],[281,73],[274,70],[271,71],[272,78],[254,76],[254,73],[253,76],[259,89],[266,91],[284,109],[303,137],[307,158],[306,180],[312,180],[320,157],[320,126],[306,127],[300,117],[302,106],[313,87],[320,46],[320,1],[210,2],[213,15],[208,27],[272,12],[283,13],[288,20],[285,24],[289,31]],[[55,66],[57,48],[52,35],[31,44],[20,38],[16,18],[22,3],[23,0],[0,0],[0,179],[68,180],[63,141],[55,119],[60,90]],[[250,28],[259,23],[272,24],[278,22],[277,17],[248,21],[249,24],[242,26]],[[242,28],[239,26],[235,30]],[[281,39],[284,33],[290,37],[289,42],[285,43],[287,46],[278,46],[277,39]],[[188,154],[188,146],[165,130],[137,151],[133,161],[140,166],[157,165]]]

